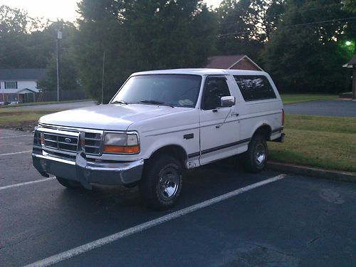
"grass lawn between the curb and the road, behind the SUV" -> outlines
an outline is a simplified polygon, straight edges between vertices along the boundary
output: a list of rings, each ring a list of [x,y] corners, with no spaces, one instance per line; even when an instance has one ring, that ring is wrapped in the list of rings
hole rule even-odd
[[[268,142],[269,159],[356,172],[356,117],[286,115],[286,140]]]

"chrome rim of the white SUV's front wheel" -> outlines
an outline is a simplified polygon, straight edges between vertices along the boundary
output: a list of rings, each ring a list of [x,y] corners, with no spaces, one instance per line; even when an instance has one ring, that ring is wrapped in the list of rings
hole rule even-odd
[[[179,173],[174,167],[167,167],[159,175],[158,192],[164,200],[172,199],[179,189]]]

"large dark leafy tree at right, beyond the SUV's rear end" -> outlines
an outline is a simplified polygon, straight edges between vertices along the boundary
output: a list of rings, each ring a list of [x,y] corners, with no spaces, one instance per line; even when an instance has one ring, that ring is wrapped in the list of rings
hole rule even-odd
[[[350,12],[340,2],[286,1],[286,12],[262,53],[264,68],[282,91],[337,93],[347,90],[352,56],[342,46],[355,34]]]

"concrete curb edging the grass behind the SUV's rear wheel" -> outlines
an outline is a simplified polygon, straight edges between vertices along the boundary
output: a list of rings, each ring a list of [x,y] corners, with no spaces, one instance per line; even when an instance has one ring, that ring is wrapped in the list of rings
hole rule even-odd
[[[273,169],[278,172],[289,172],[293,174],[307,175],[317,178],[330,179],[339,182],[356,183],[356,173],[353,172],[339,172],[328,169],[318,169],[314,167],[305,167],[295,164],[287,164],[280,162],[267,162],[268,169]]]

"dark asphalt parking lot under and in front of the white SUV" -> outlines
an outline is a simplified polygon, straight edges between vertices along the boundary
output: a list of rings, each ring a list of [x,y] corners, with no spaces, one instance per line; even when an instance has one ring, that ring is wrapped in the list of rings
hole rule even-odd
[[[0,129],[0,266],[355,265],[355,184],[225,161],[189,172],[179,204],[157,212],[137,189],[43,180],[31,147]]]

